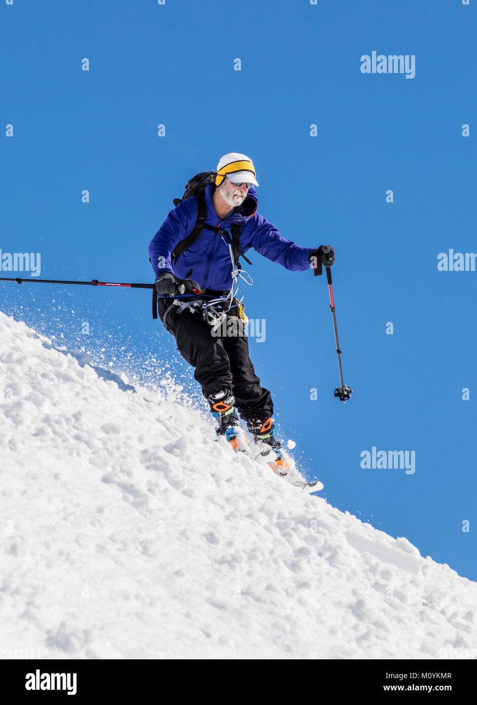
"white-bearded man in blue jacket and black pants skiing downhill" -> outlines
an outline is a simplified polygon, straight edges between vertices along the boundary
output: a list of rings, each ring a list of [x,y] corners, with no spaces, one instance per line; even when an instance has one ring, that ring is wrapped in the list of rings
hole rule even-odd
[[[275,451],[270,462],[273,470],[286,474],[287,461],[275,436],[271,393],[261,387],[255,374],[243,326],[235,326],[237,335],[217,334],[221,316],[222,320],[223,316],[227,320],[244,319],[242,307],[233,298],[239,271],[237,259],[234,262],[228,233],[220,229],[229,228],[236,233],[240,226],[240,248],[235,242],[235,255],[244,255],[254,247],[260,255],[292,271],[308,270],[316,257],[330,266],[335,254],[333,248],[325,254],[321,248],[299,247],[257,213],[254,187],[259,184],[249,157],[235,152],[225,154],[213,178],[215,183],[207,185],[203,195],[206,219],[199,237],[177,256],[179,244],[193,231],[199,215],[199,196],[194,196],[178,203],[149,245],[159,317],[175,337],[182,357],[195,368],[194,377],[218,419],[217,434],[225,436],[234,448],[242,447],[245,441],[238,412],[254,440],[266,443],[269,448],[265,450]],[[199,299],[197,293],[195,297],[190,293],[190,288],[185,291],[185,279],[191,270],[201,290]]]

